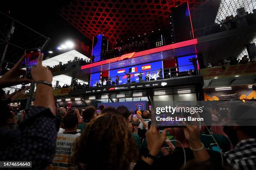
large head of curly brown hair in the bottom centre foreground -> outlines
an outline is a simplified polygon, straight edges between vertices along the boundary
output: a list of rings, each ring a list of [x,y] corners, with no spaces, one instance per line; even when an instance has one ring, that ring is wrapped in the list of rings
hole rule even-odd
[[[76,139],[73,153],[72,163],[86,170],[128,170],[138,158],[131,130],[117,114],[105,114],[89,122]]]

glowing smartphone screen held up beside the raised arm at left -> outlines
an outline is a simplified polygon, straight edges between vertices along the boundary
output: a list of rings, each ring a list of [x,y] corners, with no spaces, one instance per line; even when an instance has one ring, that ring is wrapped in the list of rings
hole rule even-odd
[[[31,76],[31,69],[32,67],[36,67],[37,59],[40,54],[39,49],[31,49],[25,51],[25,65],[26,65],[26,72],[27,78],[32,79]]]

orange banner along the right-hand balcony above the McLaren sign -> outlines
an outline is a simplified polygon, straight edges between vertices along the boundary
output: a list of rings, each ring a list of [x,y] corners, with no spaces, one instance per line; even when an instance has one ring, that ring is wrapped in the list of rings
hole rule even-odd
[[[225,68],[223,66],[203,68],[200,70],[200,74],[204,76],[204,79],[253,75],[256,74],[256,63],[249,62],[247,64],[226,65]]]

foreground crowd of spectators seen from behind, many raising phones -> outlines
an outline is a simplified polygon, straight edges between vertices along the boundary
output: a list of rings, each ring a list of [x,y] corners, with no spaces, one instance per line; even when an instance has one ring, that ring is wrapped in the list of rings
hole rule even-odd
[[[0,100],[1,161],[31,161],[34,170],[256,169],[256,126],[240,119],[255,112],[255,106],[240,101],[231,103],[229,111],[204,109],[200,126],[184,123],[158,131],[153,110],[59,108],[42,57],[31,70],[36,82],[33,107],[15,115],[12,99],[3,94]],[[0,77],[1,88],[32,81],[20,69],[23,60]],[[230,113],[234,122],[227,126]],[[219,151],[211,148],[214,143]]]

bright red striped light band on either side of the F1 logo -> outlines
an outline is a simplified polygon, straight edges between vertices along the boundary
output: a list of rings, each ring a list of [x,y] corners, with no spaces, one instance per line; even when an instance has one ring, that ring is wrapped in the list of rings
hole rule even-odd
[[[157,47],[157,48],[150,49],[150,50],[136,52],[133,55],[132,58],[141,57],[143,55],[153,54],[153,53],[156,53],[156,52],[161,52],[161,51],[166,51],[166,50],[172,50],[172,49],[175,49],[175,48],[180,48],[180,47],[185,47],[185,46],[195,45],[195,44],[197,44],[197,39],[187,40],[187,41],[178,42],[178,43],[171,44],[171,45],[165,45],[165,46],[162,46],[162,47]],[[92,63],[92,64],[88,64],[88,65],[82,65],[81,70],[86,69],[86,68],[96,67],[96,66],[99,66],[99,65],[109,64],[109,63],[112,63],[112,62],[117,62],[119,58],[120,57],[115,57],[115,58],[112,58],[112,59],[103,60],[103,61],[100,61],[100,62],[95,62],[95,63]]]

